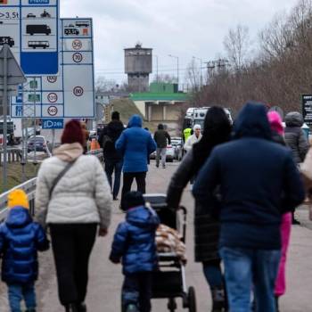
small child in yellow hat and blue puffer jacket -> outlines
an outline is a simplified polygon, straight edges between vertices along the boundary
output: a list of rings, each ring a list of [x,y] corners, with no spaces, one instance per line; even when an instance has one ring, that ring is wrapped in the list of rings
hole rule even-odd
[[[29,199],[24,191],[17,189],[9,193],[8,208],[8,216],[0,226],[0,255],[3,258],[2,280],[8,286],[10,311],[21,312],[23,299],[26,312],[35,312],[37,251],[48,250],[49,242],[42,226],[33,222],[29,214]]]

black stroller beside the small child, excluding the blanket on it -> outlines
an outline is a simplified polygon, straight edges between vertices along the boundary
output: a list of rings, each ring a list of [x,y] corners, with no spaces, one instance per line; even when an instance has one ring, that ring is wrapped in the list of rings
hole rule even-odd
[[[149,202],[152,209],[156,210],[160,217],[160,222],[179,232],[179,212],[169,209],[164,194],[145,194],[144,199]],[[186,236],[187,210],[180,207],[183,215],[182,242]],[[196,312],[196,296],[193,287],[186,287],[185,263],[177,257],[175,253],[159,254],[159,271],[153,276],[152,298],[168,299],[168,310],[177,310],[177,298],[182,298],[183,308],[188,308],[190,312]]]

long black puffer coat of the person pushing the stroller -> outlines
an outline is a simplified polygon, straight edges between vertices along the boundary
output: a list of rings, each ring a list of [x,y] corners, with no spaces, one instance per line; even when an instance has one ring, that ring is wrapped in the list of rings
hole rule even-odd
[[[197,172],[195,172],[195,162],[196,160],[193,159],[193,151],[191,151],[186,154],[179,168],[177,168],[168,187],[168,207],[177,209],[185,186],[191,178],[197,174]],[[219,223],[207,213],[207,210],[207,207],[202,208],[198,202],[195,202],[194,228],[196,262],[219,259]]]

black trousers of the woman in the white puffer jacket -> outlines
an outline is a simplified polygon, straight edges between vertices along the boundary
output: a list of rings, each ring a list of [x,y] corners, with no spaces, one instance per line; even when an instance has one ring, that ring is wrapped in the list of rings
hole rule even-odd
[[[50,225],[59,299],[63,306],[86,299],[88,263],[96,224]]]

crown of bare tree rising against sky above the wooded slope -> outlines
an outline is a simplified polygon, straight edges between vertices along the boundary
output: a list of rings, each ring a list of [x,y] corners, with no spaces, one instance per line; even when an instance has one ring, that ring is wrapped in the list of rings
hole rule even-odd
[[[237,25],[235,29],[229,29],[224,39],[224,46],[227,58],[233,64],[235,70],[241,70],[246,64],[250,45],[248,27]]]

